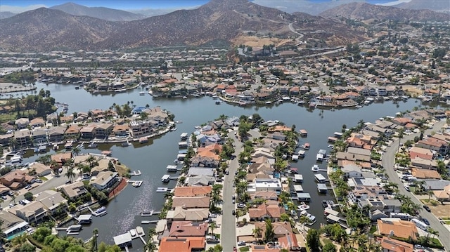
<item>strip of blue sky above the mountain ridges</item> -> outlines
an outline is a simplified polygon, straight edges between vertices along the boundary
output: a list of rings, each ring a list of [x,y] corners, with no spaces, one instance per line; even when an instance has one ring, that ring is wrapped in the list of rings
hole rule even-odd
[[[140,8],[183,8],[200,6],[209,0],[72,0],[76,4],[89,7],[108,7],[122,10]],[[333,0],[309,0],[311,2],[326,2]],[[334,0],[338,1],[338,0]],[[367,0],[371,4],[384,4],[395,0]],[[405,0],[403,0],[405,1]],[[407,0],[406,0],[407,1]],[[67,3],[68,0],[0,0],[0,11],[21,12],[37,7],[51,7]]]

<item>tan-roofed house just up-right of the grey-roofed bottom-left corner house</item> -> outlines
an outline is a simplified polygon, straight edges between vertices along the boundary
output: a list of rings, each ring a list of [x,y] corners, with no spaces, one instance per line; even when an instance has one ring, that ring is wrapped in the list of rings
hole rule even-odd
[[[8,212],[13,213],[27,223],[39,223],[47,215],[44,204],[39,201],[31,201],[25,206],[15,205],[9,208]]]

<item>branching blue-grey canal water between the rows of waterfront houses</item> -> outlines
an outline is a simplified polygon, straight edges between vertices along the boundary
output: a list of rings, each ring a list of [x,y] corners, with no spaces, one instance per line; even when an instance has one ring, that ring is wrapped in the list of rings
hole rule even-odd
[[[311,194],[311,209],[309,213],[316,215],[317,223],[313,227],[319,227],[319,223],[326,223],[323,216],[323,199],[333,199],[332,193],[319,194],[317,192],[314,173],[311,166],[316,164],[316,154],[320,149],[328,150],[328,136],[335,131],[340,131],[343,124],[347,127],[355,126],[359,120],[375,121],[380,117],[394,116],[397,112],[413,110],[419,107],[420,102],[415,99],[407,101],[383,103],[373,103],[359,109],[349,108],[342,110],[307,110],[307,107],[299,107],[293,103],[285,102],[271,107],[238,107],[222,103],[215,105],[210,97],[189,98],[178,100],[153,99],[152,96],[139,95],[143,88],[136,88],[127,93],[115,93],[114,95],[92,95],[80,89],[75,90],[75,86],[63,84],[41,84],[37,83],[37,91],[41,88],[49,90],[56,102],[65,102],[69,105],[69,113],[88,112],[92,109],[107,110],[114,103],[122,105],[126,102],[133,102],[136,106],[150,107],[160,106],[175,115],[175,120],[183,121],[176,124],[176,131],[170,131],[161,135],[147,144],[135,143],[129,147],[120,145],[102,145],[101,150],[111,150],[113,157],[119,159],[123,164],[129,166],[132,171],[140,170],[142,175],[136,180],[143,180],[141,187],[128,186],[123,192],[118,194],[113,201],[108,204],[108,214],[101,218],[94,218],[89,227],[84,227],[79,237],[89,239],[94,228],[98,229],[98,240],[113,244],[113,237],[127,232],[131,228],[141,225],[141,220],[156,220],[158,216],[141,217],[143,210],[159,211],[164,203],[164,193],[155,192],[157,187],[173,188],[175,182],[162,184],[161,177],[166,174],[166,166],[173,164],[176,154],[179,151],[177,143],[179,135],[183,132],[192,133],[194,126],[217,119],[221,114],[229,117],[239,117],[242,114],[251,115],[258,113],[265,120],[283,121],[287,126],[295,125],[297,130],[302,128],[308,131],[307,138],[300,138],[300,145],[304,142],[311,144],[306,157],[292,164],[298,168],[303,175],[302,187],[304,192]],[[18,96],[20,97],[20,93]],[[25,95],[25,93],[24,93]],[[83,150],[82,152],[100,153],[101,150]],[[30,162],[38,156],[25,159]],[[321,168],[326,168],[326,162],[319,164]],[[324,173],[323,173],[324,174]],[[324,174],[325,175],[325,174]],[[227,200],[227,199],[224,199]],[[226,209],[225,209],[226,210]],[[231,211],[231,210],[230,210]],[[149,225],[142,225],[147,230]],[[141,241],[133,241],[133,251],[142,251]]]

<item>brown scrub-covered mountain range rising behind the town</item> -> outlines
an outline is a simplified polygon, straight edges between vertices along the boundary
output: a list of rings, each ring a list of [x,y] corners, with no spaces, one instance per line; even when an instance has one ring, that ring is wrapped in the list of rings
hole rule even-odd
[[[377,15],[364,16],[361,14],[364,11]],[[348,4],[323,15],[378,19],[397,16],[406,20],[415,17],[449,20],[450,17],[370,4]],[[327,46],[367,39],[363,31],[347,27],[343,22],[306,13],[289,14],[248,0],[212,0],[192,10],[116,22],[39,8],[1,20],[0,47],[11,51],[51,51],[198,46],[217,41],[238,44],[236,38],[245,37],[248,32],[293,36],[290,23],[295,29],[309,31],[305,32],[304,39],[325,41]],[[285,41],[293,44],[291,39]]]

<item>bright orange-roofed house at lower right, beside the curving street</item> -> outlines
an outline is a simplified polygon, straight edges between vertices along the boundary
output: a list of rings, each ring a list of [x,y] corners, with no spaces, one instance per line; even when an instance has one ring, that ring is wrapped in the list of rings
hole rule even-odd
[[[377,220],[378,234],[385,236],[394,236],[404,239],[417,239],[417,227],[408,220],[400,220],[399,218],[381,218]]]

